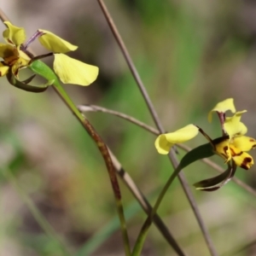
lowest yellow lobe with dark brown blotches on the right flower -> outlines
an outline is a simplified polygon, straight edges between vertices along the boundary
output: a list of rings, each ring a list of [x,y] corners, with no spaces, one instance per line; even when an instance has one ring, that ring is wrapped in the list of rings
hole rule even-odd
[[[245,170],[248,170],[253,166],[254,161],[250,154],[242,152],[240,148],[236,148],[233,145],[230,145],[230,152],[232,154],[232,159],[236,163],[236,166],[240,166]]]

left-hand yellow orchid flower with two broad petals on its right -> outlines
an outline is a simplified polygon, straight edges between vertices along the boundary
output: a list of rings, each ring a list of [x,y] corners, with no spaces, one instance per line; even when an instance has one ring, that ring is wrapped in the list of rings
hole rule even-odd
[[[32,61],[32,57],[26,51],[28,45],[38,38],[39,42],[55,56],[54,70],[62,83],[89,85],[96,80],[99,72],[98,67],[64,55],[68,51],[78,49],[78,46],[42,29],[39,29],[25,43],[24,28],[14,26],[9,21],[4,22],[4,24],[8,27],[3,32],[3,38],[7,44],[0,44],[0,57],[3,58],[0,64],[0,76],[11,72],[18,77],[19,70],[28,67]],[[39,57],[35,57],[35,59]]]

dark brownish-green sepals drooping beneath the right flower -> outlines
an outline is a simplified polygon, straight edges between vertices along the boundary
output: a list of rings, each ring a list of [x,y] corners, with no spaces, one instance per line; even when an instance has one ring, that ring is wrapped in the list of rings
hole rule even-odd
[[[195,183],[195,189],[204,190],[204,191],[214,191],[224,184],[230,181],[230,178],[234,176],[236,172],[236,166],[229,166],[229,168],[216,177],[211,177],[208,179],[204,179],[198,183]]]

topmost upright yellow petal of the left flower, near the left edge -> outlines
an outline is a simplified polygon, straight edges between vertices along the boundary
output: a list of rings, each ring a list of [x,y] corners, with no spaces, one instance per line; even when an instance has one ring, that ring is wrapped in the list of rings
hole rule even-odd
[[[3,32],[3,38],[10,44],[20,47],[26,40],[26,33],[23,27],[12,25],[9,21],[3,22],[8,28]]]

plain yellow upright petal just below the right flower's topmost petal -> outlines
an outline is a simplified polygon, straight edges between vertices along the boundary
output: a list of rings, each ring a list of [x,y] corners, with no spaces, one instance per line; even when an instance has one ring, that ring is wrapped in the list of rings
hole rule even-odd
[[[247,126],[240,121],[241,114],[245,112],[247,112],[247,110],[236,112],[232,117],[225,119],[224,130],[229,134],[230,138],[247,133]]]

